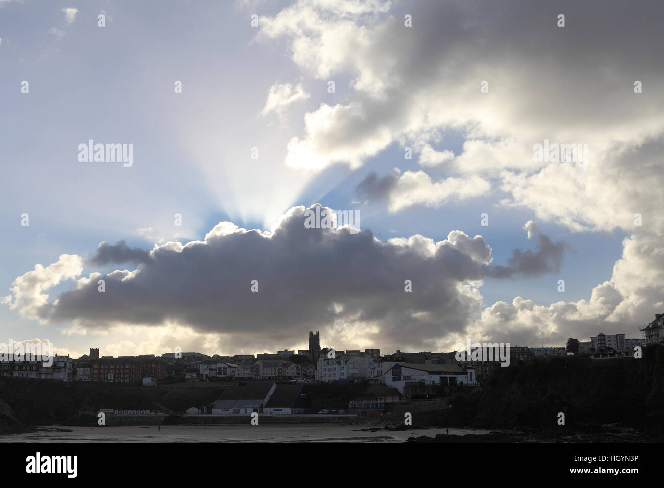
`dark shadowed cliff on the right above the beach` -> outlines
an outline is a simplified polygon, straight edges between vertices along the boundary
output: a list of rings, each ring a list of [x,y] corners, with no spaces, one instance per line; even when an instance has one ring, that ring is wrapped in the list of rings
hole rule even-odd
[[[644,349],[642,359],[535,358],[468,390],[452,398],[450,425],[548,430],[562,412],[568,429],[620,422],[662,432],[664,347]]]

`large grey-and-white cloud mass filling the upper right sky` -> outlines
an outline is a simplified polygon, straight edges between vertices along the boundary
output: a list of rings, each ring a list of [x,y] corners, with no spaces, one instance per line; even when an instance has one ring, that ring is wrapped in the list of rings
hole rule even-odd
[[[448,191],[467,195],[452,191],[467,186],[456,180],[479,177],[507,192],[502,205],[533,208],[538,218],[575,231],[631,231],[638,211],[632,207],[657,208],[654,203],[663,201],[655,190],[664,183],[663,171],[646,160],[654,159],[649,147],[664,134],[664,90],[633,92],[634,80],[664,76],[651,62],[663,40],[653,23],[625,18],[619,1],[564,1],[560,9],[574,19],[564,28],[542,3],[392,7],[374,1],[337,10],[323,1],[298,1],[261,19],[258,39],[288,42],[304,75],[350,79],[343,97],[305,115],[304,132],[288,141],[286,165],[357,169],[394,142],[412,145],[422,167],[443,167],[453,178],[434,179],[436,186],[424,174],[404,177],[402,185],[428,191],[422,203],[444,203]],[[410,28],[403,24],[406,10]],[[663,9],[652,3],[643,13],[659,18]],[[635,31],[641,35],[633,37]],[[489,93],[480,92],[483,80]],[[464,139],[461,153],[434,149],[442,133]],[[533,145],[545,139],[587,144],[590,162],[535,161]],[[624,171],[630,183],[641,175],[649,191],[623,183]],[[643,205],[647,199],[655,202]],[[400,200],[391,210],[414,199]],[[607,208],[616,208],[618,218]]]

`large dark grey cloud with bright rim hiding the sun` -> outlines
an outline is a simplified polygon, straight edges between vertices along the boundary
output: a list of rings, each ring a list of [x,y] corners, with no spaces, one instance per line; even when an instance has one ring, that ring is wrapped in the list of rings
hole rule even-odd
[[[485,276],[491,250],[481,236],[454,231],[438,246],[422,236],[380,242],[369,230],[305,228],[304,210],[292,208],[269,238],[218,224],[205,242],[165,244],[145,259],[120,243],[104,246],[100,262],[131,257],[141,266],[100,276],[104,293],[97,278],[80,284],[40,314],[87,327],[177,321],[281,341],[335,321],[380,323],[380,343],[399,345],[460,331],[479,312],[479,293],[459,284]]]

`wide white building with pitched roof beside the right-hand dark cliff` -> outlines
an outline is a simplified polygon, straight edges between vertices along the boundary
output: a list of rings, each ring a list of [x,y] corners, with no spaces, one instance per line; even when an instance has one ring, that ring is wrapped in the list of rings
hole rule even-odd
[[[457,365],[396,364],[383,374],[386,386],[396,388],[401,394],[404,387],[416,384],[424,386],[475,385],[475,368]]]

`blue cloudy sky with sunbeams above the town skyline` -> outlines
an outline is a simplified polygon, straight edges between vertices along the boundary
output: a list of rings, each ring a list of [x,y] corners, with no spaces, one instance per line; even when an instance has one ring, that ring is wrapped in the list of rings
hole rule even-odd
[[[0,0],[0,342],[640,337],[664,310],[661,15]],[[91,140],[131,159],[87,161]],[[317,206],[359,220],[311,228]]]

